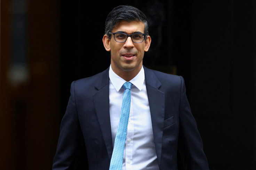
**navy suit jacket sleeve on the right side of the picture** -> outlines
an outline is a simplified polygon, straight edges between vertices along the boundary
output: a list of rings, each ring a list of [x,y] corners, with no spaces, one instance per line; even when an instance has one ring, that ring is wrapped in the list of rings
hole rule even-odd
[[[209,169],[208,162],[203,152],[203,144],[197,124],[187,101],[184,79],[182,77],[181,81],[178,151],[181,154],[185,169],[207,170]]]

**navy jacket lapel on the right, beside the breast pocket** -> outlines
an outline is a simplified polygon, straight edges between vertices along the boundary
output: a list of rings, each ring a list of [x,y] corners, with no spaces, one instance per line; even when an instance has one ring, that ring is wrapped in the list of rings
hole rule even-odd
[[[159,90],[161,83],[152,70],[144,67],[147,96],[149,98],[149,107],[157,153],[158,164],[161,160],[163,120],[165,117],[165,93]]]

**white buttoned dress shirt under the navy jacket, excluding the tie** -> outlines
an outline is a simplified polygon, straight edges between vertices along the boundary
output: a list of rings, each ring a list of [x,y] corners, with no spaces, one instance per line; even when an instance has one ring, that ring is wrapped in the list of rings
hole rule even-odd
[[[126,80],[115,74],[111,66],[109,78],[110,122],[114,146],[124,92],[122,85]],[[122,170],[159,170],[143,67],[130,82],[133,85]]]

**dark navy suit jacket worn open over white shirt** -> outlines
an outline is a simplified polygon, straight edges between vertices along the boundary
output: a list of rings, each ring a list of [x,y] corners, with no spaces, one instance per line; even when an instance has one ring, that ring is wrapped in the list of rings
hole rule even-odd
[[[209,169],[187,101],[184,79],[145,67],[144,71],[160,170],[177,169],[177,152],[185,169]],[[109,169],[113,151],[109,68],[95,76],[72,82],[53,169],[73,169],[77,166],[82,147],[86,148],[87,160],[84,161],[88,163],[87,169]]]

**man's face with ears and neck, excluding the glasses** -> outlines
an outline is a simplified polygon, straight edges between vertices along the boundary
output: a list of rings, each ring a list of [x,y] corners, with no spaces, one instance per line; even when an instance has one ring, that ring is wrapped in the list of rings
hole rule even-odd
[[[117,24],[112,32],[123,32],[126,34],[144,33],[145,25],[142,22],[121,21]],[[107,40],[104,42],[104,39]],[[109,40],[106,35],[103,37],[105,49],[111,51],[111,67],[117,75],[127,74],[127,71],[137,74],[142,67],[144,51],[148,51],[150,46],[150,36],[146,42],[134,43],[131,37],[126,42],[120,43],[115,41],[114,35]]]

